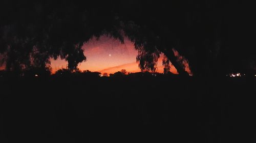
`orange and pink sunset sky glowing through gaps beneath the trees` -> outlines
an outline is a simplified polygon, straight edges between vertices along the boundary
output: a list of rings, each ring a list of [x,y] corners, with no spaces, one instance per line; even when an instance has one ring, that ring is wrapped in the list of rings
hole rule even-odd
[[[98,40],[92,38],[82,48],[87,61],[78,65],[81,71],[90,70],[110,74],[126,69],[127,72],[140,72],[138,63],[136,63],[138,52],[134,48],[134,43],[128,39],[121,44],[119,40],[101,36]],[[163,73],[162,59],[163,55],[161,54],[157,65],[157,72],[160,73]],[[67,64],[65,60],[52,60],[52,72],[66,68]],[[177,70],[172,67],[171,72],[177,73]]]

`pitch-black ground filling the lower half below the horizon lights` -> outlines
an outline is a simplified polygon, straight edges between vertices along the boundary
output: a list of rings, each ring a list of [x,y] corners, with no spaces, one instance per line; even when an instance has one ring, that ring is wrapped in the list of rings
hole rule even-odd
[[[253,78],[32,78],[0,85],[0,142],[256,142]]]

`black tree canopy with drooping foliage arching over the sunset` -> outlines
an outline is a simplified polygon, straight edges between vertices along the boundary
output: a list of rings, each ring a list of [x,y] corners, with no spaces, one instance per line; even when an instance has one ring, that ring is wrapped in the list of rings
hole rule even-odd
[[[103,34],[134,42],[145,71],[155,70],[162,52],[165,70],[171,62],[187,75],[174,50],[195,75],[255,70],[255,10],[238,1],[1,3],[0,53],[7,70],[50,69],[49,59],[58,57],[75,70],[86,60],[83,43]]]

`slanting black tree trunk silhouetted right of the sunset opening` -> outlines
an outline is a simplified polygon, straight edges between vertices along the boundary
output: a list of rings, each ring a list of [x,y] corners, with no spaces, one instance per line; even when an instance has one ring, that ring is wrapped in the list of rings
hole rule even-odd
[[[167,56],[170,62],[172,62],[174,67],[177,69],[179,75],[188,76],[188,73],[185,71],[185,69],[178,63],[177,57],[175,56],[173,49],[167,49],[163,53]]]

